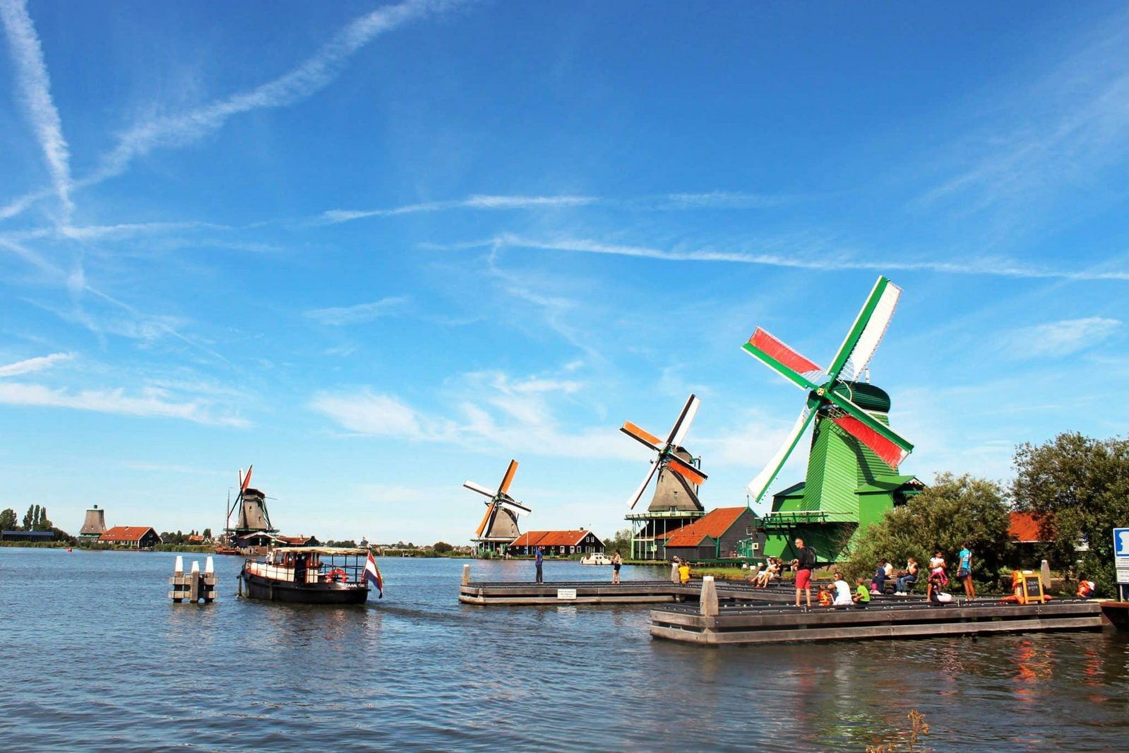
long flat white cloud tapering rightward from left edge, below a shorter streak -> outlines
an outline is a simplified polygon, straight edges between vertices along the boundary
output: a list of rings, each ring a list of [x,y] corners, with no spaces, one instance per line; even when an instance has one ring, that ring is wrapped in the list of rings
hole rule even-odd
[[[8,405],[41,405],[70,408],[98,413],[124,415],[166,417],[216,426],[247,427],[238,417],[213,415],[200,402],[176,403],[164,400],[160,391],[143,391],[126,395],[124,389],[84,389],[71,393],[51,389],[43,385],[0,382],[0,403]]]

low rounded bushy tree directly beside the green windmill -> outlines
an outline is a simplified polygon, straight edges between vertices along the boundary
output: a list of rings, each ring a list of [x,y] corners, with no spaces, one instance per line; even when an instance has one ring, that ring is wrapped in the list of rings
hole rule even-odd
[[[952,576],[956,572],[956,553],[966,542],[974,558],[972,577],[997,587],[1000,569],[1010,564],[1009,523],[998,483],[969,474],[938,473],[933,485],[859,534],[843,569],[851,580],[869,579],[878,560],[901,567],[912,557],[924,572],[929,558],[940,550]]]

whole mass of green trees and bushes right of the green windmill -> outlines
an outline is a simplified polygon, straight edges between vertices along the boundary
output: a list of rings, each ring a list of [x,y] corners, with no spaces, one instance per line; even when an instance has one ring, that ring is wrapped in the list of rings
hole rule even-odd
[[[1129,440],[1065,432],[1016,448],[1015,480],[1003,485],[969,474],[939,473],[907,505],[859,534],[843,564],[850,578],[868,578],[879,559],[922,567],[940,550],[949,577],[963,543],[973,552],[973,580],[984,590],[1008,590],[1013,569],[1038,569],[1047,559],[1068,593],[1085,576],[1102,596],[1117,594],[1113,528],[1129,524]],[[1010,541],[1012,510],[1030,513],[1043,543]]]

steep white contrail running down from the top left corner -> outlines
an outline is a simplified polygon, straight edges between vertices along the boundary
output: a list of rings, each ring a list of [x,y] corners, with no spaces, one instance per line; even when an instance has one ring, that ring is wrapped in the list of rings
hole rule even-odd
[[[47,160],[51,181],[64,216],[69,216],[73,209],[70,198],[70,147],[63,138],[62,121],[51,98],[51,77],[43,60],[43,45],[23,0],[0,0],[0,19],[8,33],[16,81],[28,120]]]

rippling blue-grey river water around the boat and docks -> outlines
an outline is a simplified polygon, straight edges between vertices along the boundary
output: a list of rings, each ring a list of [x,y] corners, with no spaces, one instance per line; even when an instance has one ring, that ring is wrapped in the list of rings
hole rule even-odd
[[[239,599],[231,557],[216,604],[174,605],[173,560],[0,549],[0,750],[861,751],[912,708],[925,750],[1129,747],[1124,634],[709,649],[645,606],[461,605],[463,560],[382,560],[385,598],[348,608]]]

